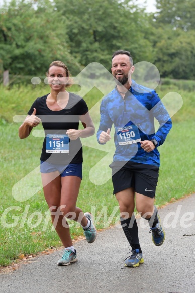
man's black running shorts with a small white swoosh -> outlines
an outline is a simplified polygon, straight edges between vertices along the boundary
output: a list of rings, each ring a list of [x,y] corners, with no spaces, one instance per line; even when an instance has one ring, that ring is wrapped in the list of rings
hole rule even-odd
[[[159,167],[132,161],[113,162],[113,194],[133,187],[135,192],[154,198],[158,182]]]

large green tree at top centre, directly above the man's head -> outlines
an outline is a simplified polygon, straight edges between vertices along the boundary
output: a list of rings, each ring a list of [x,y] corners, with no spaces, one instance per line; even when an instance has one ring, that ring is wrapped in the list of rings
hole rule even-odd
[[[56,8],[68,19],[71,54],[86,66],[100,62],[111,67],[115,50],[129,50],[134,62],[153,62],[153,48],[147,40],[147,15],[133,1],[55,0]]]

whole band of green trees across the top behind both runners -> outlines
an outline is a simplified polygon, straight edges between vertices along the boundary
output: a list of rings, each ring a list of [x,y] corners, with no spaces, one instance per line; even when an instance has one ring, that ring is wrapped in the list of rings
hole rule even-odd
[[[125,49],[161,77],[195,77],[194,0],[157,0],[147,13],[136,0],[4,0],[0,13],[1,67],[11,74],[44,75],[55,59],[73,76],[89,63],[110,69]]]

